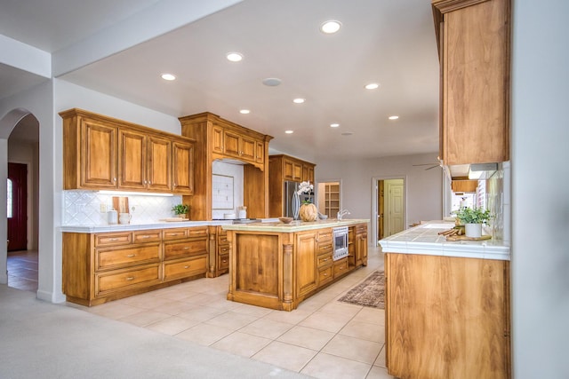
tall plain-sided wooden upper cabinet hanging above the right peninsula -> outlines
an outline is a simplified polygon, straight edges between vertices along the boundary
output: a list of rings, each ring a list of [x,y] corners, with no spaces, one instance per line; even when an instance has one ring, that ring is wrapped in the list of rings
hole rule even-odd
[[[433,0],[441,63],[440,158],[509,160],[509,0]]]

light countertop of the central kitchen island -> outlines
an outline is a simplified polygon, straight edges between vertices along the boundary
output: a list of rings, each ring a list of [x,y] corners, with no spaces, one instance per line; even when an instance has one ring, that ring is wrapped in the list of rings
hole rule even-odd
[[[223,225],[225,230],[236,230],[241,232],[275,232],[275,233],[294,233],[303,232],[305,230],[323,229],[335,226],[349,226],[362,223],[369,223],[368,219],[349,218],[345,220],[317,220],[317,221],[293,221],[290,224],[284,224],[280,221],[251,223],[251,224],[233,224]]]

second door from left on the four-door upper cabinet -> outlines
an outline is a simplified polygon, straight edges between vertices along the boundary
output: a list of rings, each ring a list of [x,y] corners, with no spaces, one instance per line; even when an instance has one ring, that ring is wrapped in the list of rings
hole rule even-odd
[[[146,188],[147,136],[134,130],[118,130],[118,188]]]

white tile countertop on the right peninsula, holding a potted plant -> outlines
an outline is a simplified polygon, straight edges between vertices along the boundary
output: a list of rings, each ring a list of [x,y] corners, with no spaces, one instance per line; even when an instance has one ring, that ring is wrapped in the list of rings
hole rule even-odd
[[[420,254],[428,256],[497,259],[509,261],[509,246],[503,241],[446,241],[439,232],[454,223],[429,221],[380,241],[384,253]]]

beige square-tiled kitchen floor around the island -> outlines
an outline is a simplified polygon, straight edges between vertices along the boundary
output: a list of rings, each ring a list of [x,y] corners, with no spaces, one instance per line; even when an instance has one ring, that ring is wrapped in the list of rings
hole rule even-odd
[[[293,312],[228,301],[227,274],[91,308],[69,305],[316,378],[390,378],[384,311],[337,301],[376,269],[383,269],[381,250],[369,249],[366,267]]]

